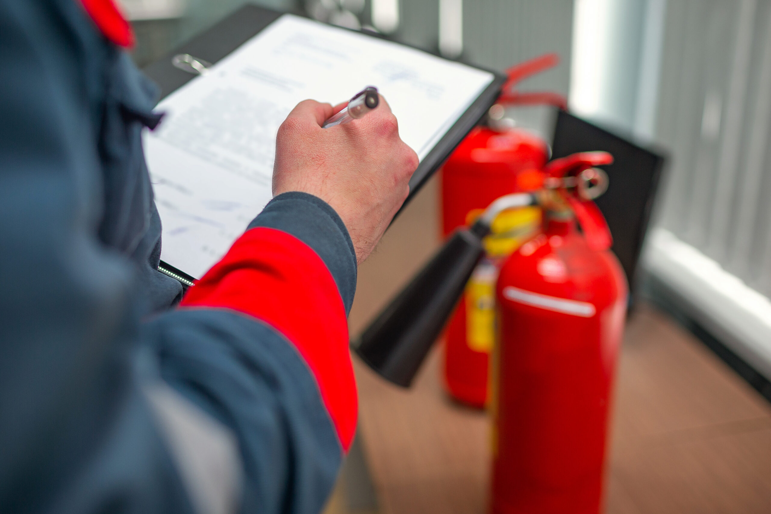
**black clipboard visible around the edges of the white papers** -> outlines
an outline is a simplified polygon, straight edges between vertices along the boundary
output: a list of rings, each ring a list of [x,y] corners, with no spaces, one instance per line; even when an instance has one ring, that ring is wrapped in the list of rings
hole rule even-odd
[[[233,12],[233,14],[224,18],[221,22],[211,27],[200,35],[197,35],[190,41],[183,43],[177,49],[174,49],[162,59],[146,66],[143,72],[146,76],[153,79],[160,86],[160,99],[170,95],[190,80],[195,78],[194,74],[185,72],[173,66],[172,59],[174,55],[189,54],[197,59],[203,59],[211,64],[217,63],[226,55],[233,52],[239,46],[261,32],[265,27],[276,21],[284,12],[274,11],[268,8],[258,7],[256,5],[244,5],[244,7]],[[358,32],[369,37],[379,38],[381,36],[369,33]],[[446,160],[450,153],[460,144],[466,134],[468,134],[477,123],[483,119],[487,109],[495,103],[500,95],[500,89],[503,82],[506,82],[506,76],[495,70],[482,68],[480,66],[470,65],[474,68],[483,69],[493,74],[493,81],[476,98],[466,112],[460,116],[456,123],[450,127],[447,133],[439,139],[439,142],[421,161],[418,169],[412,175],[409,181],[409,197],[405,200],[404,206],[412,200],[412,197],[423,187],[429,178],[439,169],[439,166]],[[399,213],[401,210],[399,210]],[[396,216],[399,215],[396,213]],[[194,277],[184,273],[182,270],[170,266],[161,261],[159,270],[163,273],[176,278],[185,286],[190,286],[194,282]]]

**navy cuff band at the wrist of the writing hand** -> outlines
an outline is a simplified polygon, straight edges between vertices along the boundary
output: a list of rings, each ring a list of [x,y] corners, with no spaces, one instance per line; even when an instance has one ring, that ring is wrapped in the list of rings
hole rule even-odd
[[[328,203],[299,191],[281,193],[249,223],[248,228],[255,227],[281,230],[311,247],[335,279],[348,315],[356,292],[356,252],[348,229]]]

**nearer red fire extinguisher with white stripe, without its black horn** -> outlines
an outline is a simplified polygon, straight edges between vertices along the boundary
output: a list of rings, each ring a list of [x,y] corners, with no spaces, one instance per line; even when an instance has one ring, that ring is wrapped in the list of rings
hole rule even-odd
[[[611,385],[627,284],[591,201],[608,153],[545,168],[542,232],[510,255],[496,296],[493,514],[601,512]],[[579,226],[581,230],[579,230]]]

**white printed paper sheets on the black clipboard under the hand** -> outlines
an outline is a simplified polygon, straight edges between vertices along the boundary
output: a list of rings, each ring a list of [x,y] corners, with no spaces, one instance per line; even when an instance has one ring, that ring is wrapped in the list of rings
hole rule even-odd
[[[271,200],[278,126],[304,99],[335,105],[375,86],[423,158],[493,81],[490,72],[283,15],[160,102],[144,148],[161,258],[200,278]]]

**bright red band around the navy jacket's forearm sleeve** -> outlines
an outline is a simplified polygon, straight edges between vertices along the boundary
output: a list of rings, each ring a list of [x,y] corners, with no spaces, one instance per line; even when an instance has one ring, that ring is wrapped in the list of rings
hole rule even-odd
[[[311,247],[281,230],[247,230],[180,305],[226,307],[284,334],[311,368],[348,452],[359,408],[348,322],[335,279]]]

